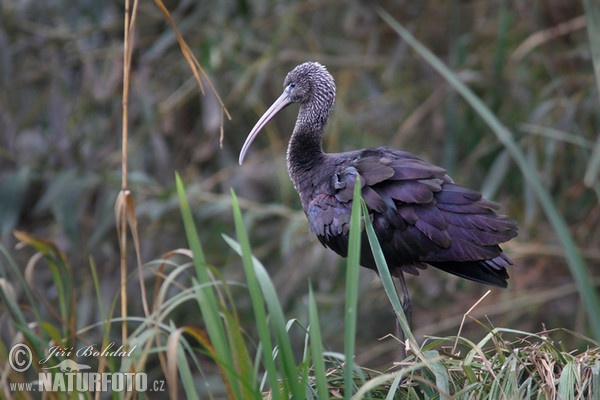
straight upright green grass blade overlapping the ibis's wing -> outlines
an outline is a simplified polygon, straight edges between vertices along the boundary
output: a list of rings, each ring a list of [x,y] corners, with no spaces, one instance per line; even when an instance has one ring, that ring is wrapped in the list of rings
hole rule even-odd
[[[346,265],[346,308],[344,311],[344,398],[350,399],[354,391],[354,349],[356,341],[356,307],[358,305],[358,269],[360,266],[360,178],[354,183],[354,197],[350,216],[350,238]],[[368,218],[368,214],[367,214]]]

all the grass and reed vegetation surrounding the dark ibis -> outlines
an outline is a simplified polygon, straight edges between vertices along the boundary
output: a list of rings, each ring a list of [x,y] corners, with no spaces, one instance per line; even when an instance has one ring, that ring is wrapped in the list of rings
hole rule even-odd
[[[6,397],[65,359],[162,390],[115,398],[598,396],[594,2],[133,1],[125,35],[120,5],[60,3],[0,15]],[[358,266],[358,197],[347,260],[310,239],[283,161],[294,112],[236,165],[307,59],[338,84],[328,149],[404,147],[506,205],[509,289],[424,271],[411,331],[383,257],[381,279]],[[67,354],[114,343],[130,355]]]

